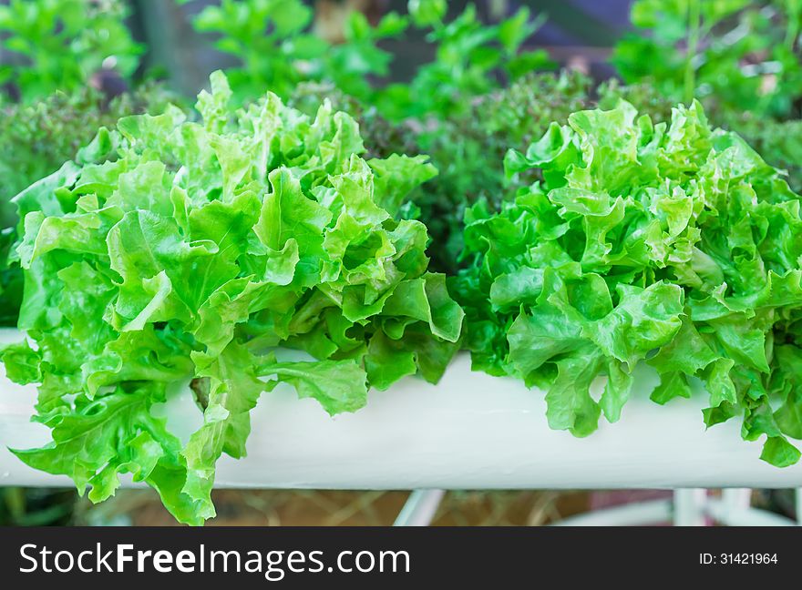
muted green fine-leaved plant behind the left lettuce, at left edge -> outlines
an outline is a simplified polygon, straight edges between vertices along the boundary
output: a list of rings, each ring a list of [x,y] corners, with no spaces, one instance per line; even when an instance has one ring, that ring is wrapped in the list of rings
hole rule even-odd
[[[11,199],[76,158],[100,127],[114,127],[120,117],[163,112],[173,99],[153,83],[112,99],[84,86],[31,105],[0,107],[0,326],[16,325],[22,300],[22,273],[8,265],[17,225]]]

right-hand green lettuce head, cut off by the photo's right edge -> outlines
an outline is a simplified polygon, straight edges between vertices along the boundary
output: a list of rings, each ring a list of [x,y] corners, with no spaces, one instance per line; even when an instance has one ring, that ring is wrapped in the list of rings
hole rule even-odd
[[[654,124],[624,101],[552,125],[505,168],[542,181],[499,213],[468,209],[456,286],[475,368],[545,389],[550,425],[584,436],[618,420],[645,361],[653,401],[704,384],[707,425],[741,415],[763,459],[796,463],[802,217],[776,170],[698,103]]]

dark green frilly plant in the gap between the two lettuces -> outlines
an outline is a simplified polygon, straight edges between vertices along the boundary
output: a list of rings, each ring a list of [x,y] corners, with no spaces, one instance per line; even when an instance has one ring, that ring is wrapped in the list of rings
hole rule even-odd
[[[526,148],[552,121],[563,123],[589,104],[591,79],[579,73],[532,74],[507,88],[473,99],[467,110],[439,122],[418,141],[440,174],[412,199],[437,243],[433,264],[456,272],[465,209],[479,200],[491,209],[514,196],[501,160],[510,147]]]

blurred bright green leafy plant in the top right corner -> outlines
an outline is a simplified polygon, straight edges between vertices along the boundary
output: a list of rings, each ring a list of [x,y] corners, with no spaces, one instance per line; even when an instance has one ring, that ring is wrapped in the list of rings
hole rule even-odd
[[[638,0],[613,64],[627,82],[648,80],[674,101],[697,97],[717,121],[751,111],[798,117],[802,97],[799,0]]]

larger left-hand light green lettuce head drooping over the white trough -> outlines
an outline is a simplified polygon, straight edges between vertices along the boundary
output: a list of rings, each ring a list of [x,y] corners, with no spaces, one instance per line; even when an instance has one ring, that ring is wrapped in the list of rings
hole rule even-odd
[[[463,312],[427,272],[427,230],[393,213],[426,158],[360,158],[355,120],[314,120],[269,94],[231,112],[221,74],[202,123],[177,108],[101,130],[79,166],[23,191],[23,343],[6,371],[37,382],[46,447],[16,454],[101,501],[133,473],[180,521],[214,515],[222,453],[279,381],[330,413],[414,373],[437,381]],[[102,155],[106,155],[105,157]],[[286,361],[275,349],[314,360]],[[190,383],[203,424],[183,444],[154,405]]]

